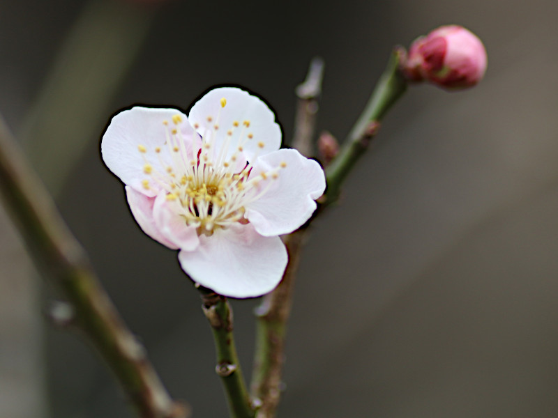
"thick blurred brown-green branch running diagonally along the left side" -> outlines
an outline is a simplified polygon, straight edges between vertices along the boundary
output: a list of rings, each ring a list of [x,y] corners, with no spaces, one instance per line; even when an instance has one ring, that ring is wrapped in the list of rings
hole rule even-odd
[[[0,194],[40,272],[71,304],[71,325],[86,334],[121,383],[140,417],[184,418],[100,285],[84,249],[64,224],[40,180],[27,167],[0,118]]]

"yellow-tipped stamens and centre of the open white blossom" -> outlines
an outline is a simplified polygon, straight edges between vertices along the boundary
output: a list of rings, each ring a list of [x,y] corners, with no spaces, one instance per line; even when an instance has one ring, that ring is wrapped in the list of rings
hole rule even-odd
[[[221,108],[226,100],[220,100]],[[246,223],[245,206],[268,192],[287,164],[282,162],[269,171],[251,175],[253,162],[243,155],[246,141],[252,141],[254,135],[248,132],[250,121],[240,124],[234,121],[226,130],[225,139],[217,143],[220,112],[211,129],[202,137],[201,144],[197,136],[185,138],[179,130],[183,122],[179,114],[172,116],[176,128],[170,128],[168,121],[163,121],[166,128],[166,141],[163,147],[156,147],[157,170],[149,161],[153,157],[151,150],[138,146],[144,160],[142,180],[145,189],[163,189],[172,210],[184,219],[188,226],[195,226],[198,234],[211,235],[215,229],[227,228],[236,222]],[[207,116],[213,122],[213,116]],[[197,129],[199,126],[194,124]],[[227,127],[225,127],[226,129]],[[257,148],[264,148],[258,142]]]

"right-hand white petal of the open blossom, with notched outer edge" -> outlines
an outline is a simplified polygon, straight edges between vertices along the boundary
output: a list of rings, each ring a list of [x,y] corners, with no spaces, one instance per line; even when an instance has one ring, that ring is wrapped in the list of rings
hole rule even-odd
[[[282,167],[273,173],[276,167]],[[303,225],[316,209],[315,199],[322,196],[326,188],[324,170],[297,150],[278,150],[259,157],[250,173],[255,178],[268,173],[259,189],[264,195],[246,205],[246,218],[256,231],[265,236],[290,233]]]

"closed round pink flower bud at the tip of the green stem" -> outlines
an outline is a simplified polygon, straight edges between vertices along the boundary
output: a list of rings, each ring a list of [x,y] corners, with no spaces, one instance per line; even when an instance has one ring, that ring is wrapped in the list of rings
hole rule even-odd
[[[403,71],[415,82],[428,80],[443,88],[472,87],[484,76],[486,49],[462,26],[440,26],[409,48]]]

